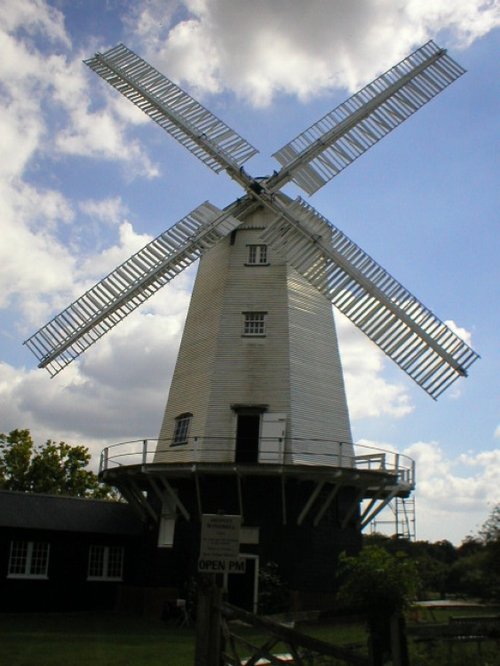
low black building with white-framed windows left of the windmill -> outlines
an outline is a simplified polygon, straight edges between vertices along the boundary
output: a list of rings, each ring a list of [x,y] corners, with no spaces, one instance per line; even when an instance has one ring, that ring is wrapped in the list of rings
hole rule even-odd
[[[0,611],[161,614],[165,551],[128,504],[0,491]]]

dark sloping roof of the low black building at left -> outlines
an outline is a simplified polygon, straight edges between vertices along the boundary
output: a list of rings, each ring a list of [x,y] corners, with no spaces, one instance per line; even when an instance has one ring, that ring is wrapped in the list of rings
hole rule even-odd
[[[129,504],[0,490],[0,528],[138,535],[143,524]]]

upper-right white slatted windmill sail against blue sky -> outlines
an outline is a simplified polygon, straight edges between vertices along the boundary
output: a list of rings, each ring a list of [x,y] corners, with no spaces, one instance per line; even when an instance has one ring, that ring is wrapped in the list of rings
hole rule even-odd
[[[313,194],[464,72],[428,42],[274,153],[282,169],[269,185]]]

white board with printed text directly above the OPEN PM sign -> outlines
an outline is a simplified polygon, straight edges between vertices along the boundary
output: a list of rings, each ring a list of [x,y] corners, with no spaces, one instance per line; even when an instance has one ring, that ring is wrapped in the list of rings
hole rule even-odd
[[[200,560],[237,560],[241,516],[204,514],[201,517]]]

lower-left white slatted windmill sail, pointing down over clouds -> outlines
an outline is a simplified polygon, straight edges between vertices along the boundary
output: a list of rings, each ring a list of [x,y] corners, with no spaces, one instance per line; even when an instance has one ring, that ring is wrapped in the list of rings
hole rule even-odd
[[[205,202],[34,333],[25,345],[51,376],[192,264],[240,222]]]

